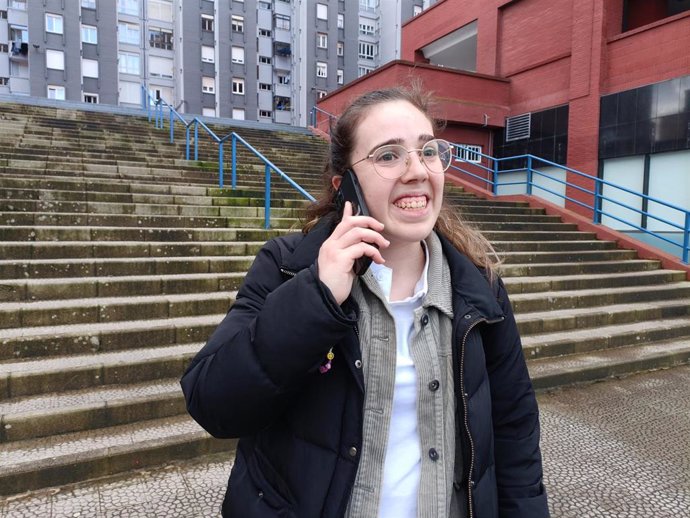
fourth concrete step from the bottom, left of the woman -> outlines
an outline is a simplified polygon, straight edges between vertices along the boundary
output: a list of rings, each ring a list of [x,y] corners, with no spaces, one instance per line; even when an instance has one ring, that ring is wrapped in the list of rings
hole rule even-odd
[[[89,355],[203,342],[224,316],[225,313],[221,313],[155,320],[0,329],[0,360]],[[0,379],[0,393],[8,394],[5,383],[6,380]]]

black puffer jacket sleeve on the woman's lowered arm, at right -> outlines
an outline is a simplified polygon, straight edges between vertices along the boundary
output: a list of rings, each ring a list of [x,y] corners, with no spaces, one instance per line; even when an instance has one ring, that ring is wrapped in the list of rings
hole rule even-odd
[[[496,281],[505,319],[483,339],[491,382],[500,518],[549,516],[539,448],[539,411],[505,286]]]

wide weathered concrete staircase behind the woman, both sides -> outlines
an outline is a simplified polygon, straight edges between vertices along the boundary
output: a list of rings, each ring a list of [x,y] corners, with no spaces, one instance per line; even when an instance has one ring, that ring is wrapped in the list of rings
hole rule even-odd
[[[304,202],[275,179],[262,230],[256,160],[221,191],[212,147],[183,161],[143,118],[0,105],[0,125],[0,495],[232,449],[186,416],[179,377]],[[321,141],[238,133],[318,191]],[[447,197],[505,259],[537,387],[690,359],[684,272],[524,204]]]

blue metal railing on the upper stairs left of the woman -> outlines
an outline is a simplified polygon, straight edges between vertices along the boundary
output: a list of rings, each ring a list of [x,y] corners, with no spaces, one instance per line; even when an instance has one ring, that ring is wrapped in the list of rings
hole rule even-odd
[[[149,122],[152,117],[155,117],[155,127],[157,129],[164,129],[165,126],[165,116],[164,110],[167,109],[169,112],[169,125],[170,125],[170,143],[175,141],[175,121],[178,120],[185,126],[185,158],[189,160],[190,156],[190,141],[191,141],[191,129],[194,127],[194,160],[199,160],[199,127],[203,129],[208,136],[218,144],[218,184],[221,189],[224,188],[225,182],[225,172],[224,172],[224,162],[225,162],[225,152],[224,144],[229,139],[232,144],[232,176],[231,176],[231,189],[235,190],[237,188],[237,143],[239,142],[245,148],[247,148],[252,154],[254,154],[264,165],[264,228],[270,228],[271,226],[271,172],[278,174],[283,180],[285,180],[291,187],[297,190],[302,196],[304,196],[309,201],[315,201],[315,198],[309,194],[302,186],[285,174],[278,166],[266,158],[262,153],[257,151],[251,144],[244,140],[234,131],[225,135],[224,137],[219,137],[216,133],[209,128],[202,120],[198,117],[193,117],[191,119],[186,119],[184,116],[179,114],[175,108],[170,104],[165,102],[163,99],[154,98],[151,93],[144,87],[141,87],[142,92],[142,106],[146,110]],[[153,114],[152,114],[153,108]]]

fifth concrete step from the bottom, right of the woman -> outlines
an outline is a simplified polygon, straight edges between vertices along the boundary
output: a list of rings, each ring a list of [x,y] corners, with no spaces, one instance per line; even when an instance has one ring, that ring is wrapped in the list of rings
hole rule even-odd
[[[558,275],[546,277],[506,277],[504,283],[512,296],[518,293],[537,293],[546,291],[586,290],[597,288],[619,288],[623,286],[649,286],[683,282],[685,272],[674,270],[649,270],[630,273],[610,273],[599,275]]]

